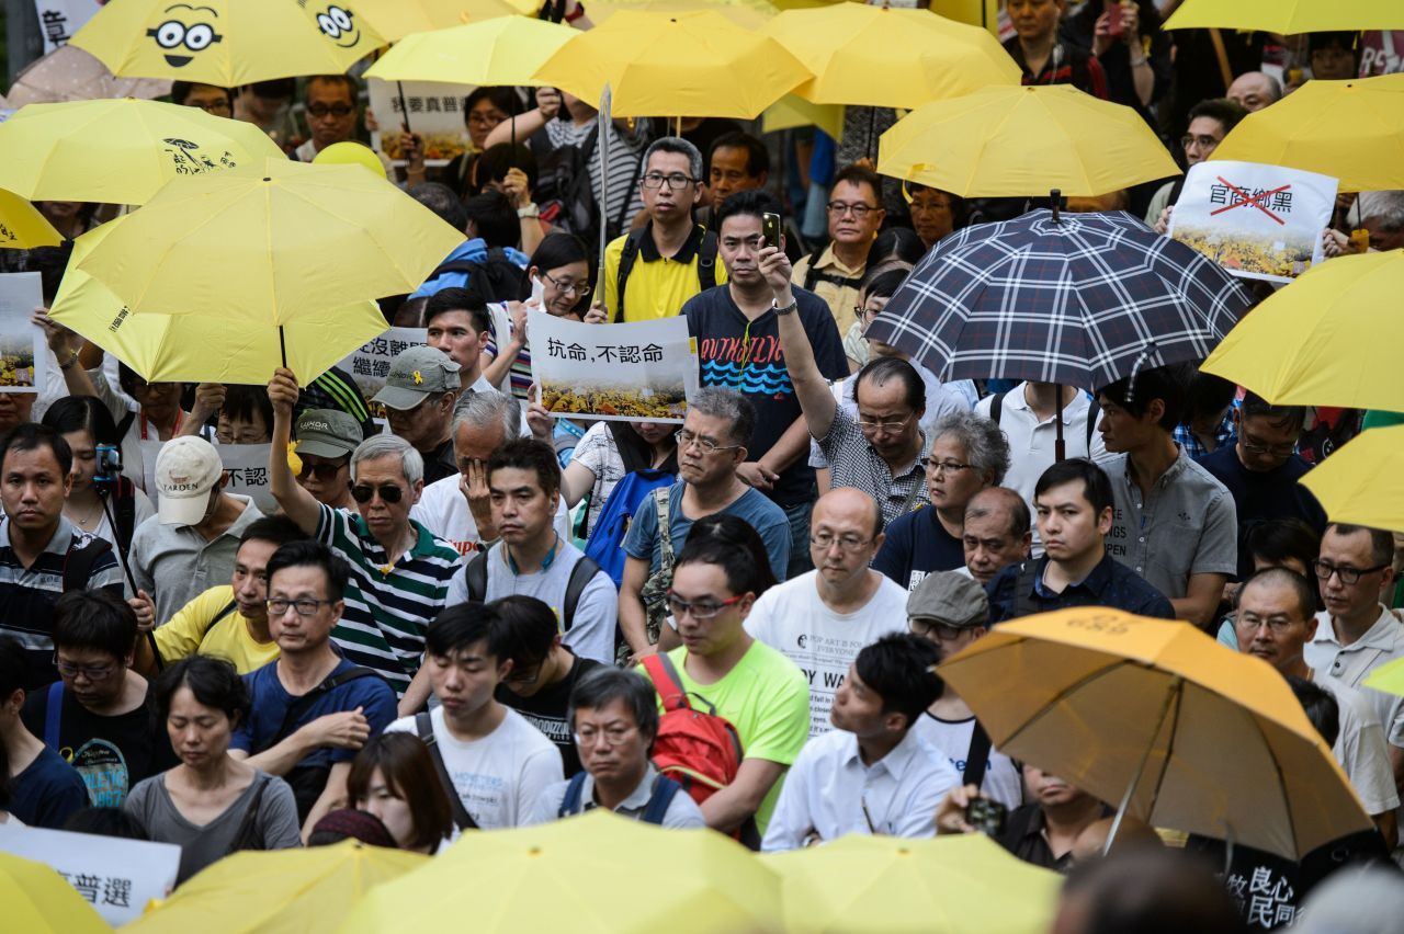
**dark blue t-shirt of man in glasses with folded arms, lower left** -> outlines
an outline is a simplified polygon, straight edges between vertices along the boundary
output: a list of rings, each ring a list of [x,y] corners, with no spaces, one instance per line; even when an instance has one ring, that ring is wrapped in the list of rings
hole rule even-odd
[[[347,659],[331,669],[333,677],[341,672],[355,668]],[[249,754],[258,754],[270,746],[275,746],[278,729],[282,726],[288,708],[298,700],[288,693],[288,689],[278,680],[278,662],[268,662],[263,668],[244,675],[249,693],[253,696],[253,712],[249,722],[234,731],[229,740],[230,749],[243,749]],[[310,724],[327,714],[361,708],[371,724],[371,735],[379,736],[389,726],[396,712],[395,691],[380,677],[358,677],[345,684],[337,684],[330,691],[312,701],[298,719],[292,722],[284,738],[291,736],[305,724]],[[355,759],[354,749],[316,749],[299,762],[299,766],[333,766],[338,762]]]

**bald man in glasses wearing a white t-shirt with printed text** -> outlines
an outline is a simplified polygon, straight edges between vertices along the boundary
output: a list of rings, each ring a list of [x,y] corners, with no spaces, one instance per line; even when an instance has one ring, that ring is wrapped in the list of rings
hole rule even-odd
[[[858,652],[907,628],[907,590],[868,567],[882,543],[878,501],[854,487],[830,489],[809,523],[814,569],[767,590],[746,617],[751,637],[809,679],[810,736],[831,729],[828,710]]]

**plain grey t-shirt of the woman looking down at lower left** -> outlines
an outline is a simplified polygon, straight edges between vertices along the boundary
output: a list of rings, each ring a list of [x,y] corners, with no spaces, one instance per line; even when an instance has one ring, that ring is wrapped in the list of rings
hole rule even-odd
[[[146,833],[157,843],[174,843],[180,846],[180,874],[176,885],[183,884],[190,877],[204,869],[211,862],[229,855],[239,827],[244,820],[244,813],[264,784],[268,787],[258,802],[258,815],[254,818],[257,837],[263,840],[264,850],[288,850],[302,846],[298,827],[298,805],[292,797],[292,788],[282,778],[260,771],[253,783],[229,805],[222,815],[209,823],[199,826],[185,819],[171,801],[170,791],[166,790],[166,776],[161,773],[138,783],[132,794],[126,797],[122,809],[142,822]]]

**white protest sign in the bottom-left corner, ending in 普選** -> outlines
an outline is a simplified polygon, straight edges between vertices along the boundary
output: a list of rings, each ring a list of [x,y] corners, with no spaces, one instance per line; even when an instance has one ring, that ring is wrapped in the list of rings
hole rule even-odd
[[[147,902],[168,896],[180,869],[180,847],[173,843],[14,823],[0,823],[0,850],[52,867],[112,927],[135,921]]]

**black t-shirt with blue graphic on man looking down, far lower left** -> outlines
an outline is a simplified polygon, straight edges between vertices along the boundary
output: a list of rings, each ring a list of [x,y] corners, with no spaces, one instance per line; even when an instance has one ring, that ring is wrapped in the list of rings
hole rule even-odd
[[[58,684],[62,687],[62,682]],[[31,693],[21,718],[31,733],[77,770],[94,808],[121,808],[138,781],[177,764],[150,694],[133,711],[98,717],[79,704],[73,691],[65,690],[56,739],[48,735],[49,694],[48,687]]]

